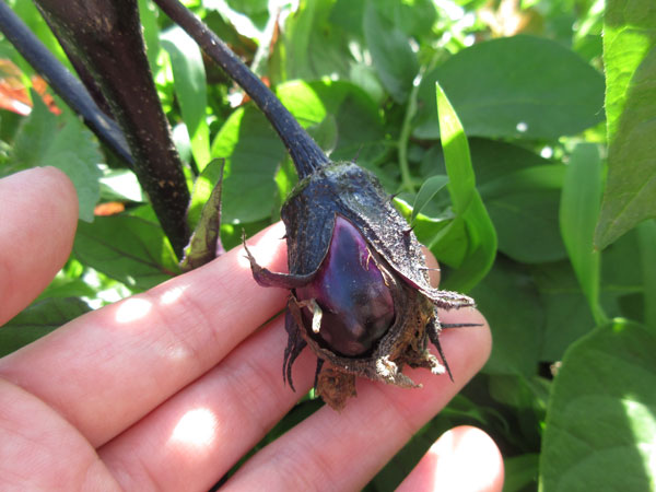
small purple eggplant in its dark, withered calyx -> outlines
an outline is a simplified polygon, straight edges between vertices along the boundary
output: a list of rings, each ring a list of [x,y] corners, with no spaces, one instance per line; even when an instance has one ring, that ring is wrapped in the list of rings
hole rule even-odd
[[[317,393],[338,410],[355,394],[356,376],[402,387],[417,387],[402,374],[403,365],[425,367],[434,374],[447,371],[427,350],[427,341],[431,340],[442,354],[438,340],[442,327],[437,307],[452,309],[473,306],[473,300],[431,286],[425,258],[414,233],[391,206],[390,197],[372,173],[349,162],[319,166],[298,181],[283,204],[281,216],[286,229],[290,273],[263,269],[257,265],[248,249],[246,253],[254,278],[260,285],[291,290],[285,316],[289,342],[284,354],[283,378],[290,382],[292,388],[292,364],[306,345],[319,359]],[[364,338],[362,333],[352,333],[349,339],[349,333],[343,335],[342,330],[340,337],[345,337],[345,340],[331,343],[327,339],[335,335],[321,337],[323,330],[328,335],[335,332],[336,328],[326,325],[330,316],[323,316],[326,300],[320,298],[321,292],[317,289],[323,286],[317,285],[324,280],[326,268],[332,268],[325,267],[335,256],[331,254],[331,244],[339,246],[344,242],[351,244],[349,247],[358,256],[351,263],[361,260],[364,244],[371,255],[366,261],[373,262],[380,273],[379,285],[373,285],[376,283],[375,272],[361,274],[360,279],[372,285],[353,292],[373,289],[377,294],[364,295],[363,303],[371,302],[375,295],[389,295],[393,303],[389,313],[385,313],[384,308],[378,309],[377,315],[382,320],[372,325],[375,332]],[[340,276],[349,282],[359,279],[358,274],[348,272],[335,274],[336,278]],[[343,289],[349,290],[347,286]],[[313,292],[316,297],[308,298]],[[341,293],[336,292],[335,304],[339,305]],[[358,313],[353,313],[351,302],[342,300],[341,304],[342,314],[359,317]],[[319,309],[316,308],[317,305]],[[370,307],[362,308],[371,311]],[[331,311],[333,309],[332,306]],[[361,318],[366,318],[366,315]],[[320,320],[319,327],[317,319]],[[386,320],[389,326],[382,329],[380,324]],[[350,318],[344,324],[351,325]],[[355,343],[355,349],[344,350],[343,347],[349,342]],[[329,363],[328,368],[323,367],[324,362]]]

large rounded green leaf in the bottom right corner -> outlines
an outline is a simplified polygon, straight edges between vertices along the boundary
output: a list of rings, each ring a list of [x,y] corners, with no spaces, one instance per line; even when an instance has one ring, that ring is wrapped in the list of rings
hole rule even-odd
[[[573,344],[553,382],[541,490],[654,490],[656,339],[617,319]]]

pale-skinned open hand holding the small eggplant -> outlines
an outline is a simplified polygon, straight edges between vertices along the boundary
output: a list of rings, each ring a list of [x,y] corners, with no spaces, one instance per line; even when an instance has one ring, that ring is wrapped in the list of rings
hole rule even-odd
[[[77,199],[58,171],[0,180],[0,325],[68,257]],[[282,226],[253,239],[284,271]],[[0,360],[0,489],[202,491],[219,480],[312,385],[315,358],[283,386],[286,293],[259,288],[242,248],[149,292],[82,316]],[[445,323],[484,323],[475,309]],[[262,329],[258,330],[262,324]],[[0,328],[1,329],[1,328]],[[455,384],[409,371],[422,389],[360,380],[337,413],[324,407],[250,458],[230,490],[358,490],[476,374],[487,325],[447,330]],[[501,490],[503,465],[481,431],[443,436],[403,490]]]

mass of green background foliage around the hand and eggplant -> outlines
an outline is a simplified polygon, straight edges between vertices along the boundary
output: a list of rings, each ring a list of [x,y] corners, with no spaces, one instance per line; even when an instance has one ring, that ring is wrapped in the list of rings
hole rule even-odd
[[[239,89],[139,3],[195,186],[190,220],[218,179],[208,163],[224,159],[231,247],[278,220],[295,172]],[[654,2],[186,3],[332,160],[356,159],[398,194],[444,285],[471,293],[492,326],[482,373],[368,488],[398,484],[444,430],[469,423],[499,443],[507,491],[654,489]],[[32,3],[9,4],[67,63]],[[80,199],[71,258],[0,330],[0,354],[179,273],[134,175],[57,97],[27,92],[38,86],[0,38],[0,175],[55,165]],[[262,444],[316,408],[304,399]]]

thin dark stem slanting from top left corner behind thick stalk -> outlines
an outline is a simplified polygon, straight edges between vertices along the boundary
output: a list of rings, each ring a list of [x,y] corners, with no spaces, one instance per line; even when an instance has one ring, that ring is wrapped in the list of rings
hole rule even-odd
[[[85,125],[130,167],[133,165],[128,142],[120,128],[98,108],[75,77],[63,67],[30,28],[0,1],[0,31],[19,52],[40,73],[52,90],[82,118]]]

